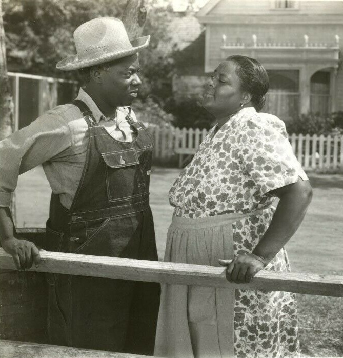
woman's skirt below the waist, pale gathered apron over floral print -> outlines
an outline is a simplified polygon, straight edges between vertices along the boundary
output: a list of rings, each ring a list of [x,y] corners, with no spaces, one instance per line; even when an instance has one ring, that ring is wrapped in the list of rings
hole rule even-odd
[[[262,230],[256,235],[256,242],[242,249],[245,246],[236,241],[241,240],[239,232],[249,221],[264,222],[268,227],[271,217],[272,209],[196,219],[173,216],[165,261],[220,266],[219,258],[231,260],[237,253],[250,253],[258,237],[264,234]],[[265,269],[289,271],[286,251],[281,250]],[[297,356],[294,299],[294,294],[289,292],[164,284],[154,355],[175,358]]]

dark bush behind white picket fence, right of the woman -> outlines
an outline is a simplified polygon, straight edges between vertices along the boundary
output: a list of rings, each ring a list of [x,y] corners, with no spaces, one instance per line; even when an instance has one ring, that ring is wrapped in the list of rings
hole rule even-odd
[[[343,112],[334,112],[326,116],[319,113],[302,114],[286,122],[289,134],[343,134]]]

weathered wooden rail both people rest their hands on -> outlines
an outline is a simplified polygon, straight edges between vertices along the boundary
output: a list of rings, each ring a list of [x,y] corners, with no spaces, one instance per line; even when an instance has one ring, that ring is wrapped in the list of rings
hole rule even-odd
[[[128,258],[41,252],[42,262],[30,271],[55,272],[82,276],[134,281],[151,281],[189,286],[207,286],[343,297],[343,276],[295,272],[260,271],[249,284],[226,280],[223,267],[190,265]],[[0,268],[14,269],[12,257],[0,249]]]

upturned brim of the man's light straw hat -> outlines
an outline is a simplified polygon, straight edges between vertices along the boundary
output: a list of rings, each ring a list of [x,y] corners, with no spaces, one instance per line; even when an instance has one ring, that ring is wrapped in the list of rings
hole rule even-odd
[[[114,59],[130,56],[148,47],[150,42],[150,36],[134,38],[130,42],[132,45],[132,49],[130,50],[113,52],[113,53],[106,54],[106,56],[89,59],[86,61],[79,61],[78,55],[72,55],[59,61],[56,65],[56,68],[62,71],[72,71],[72,70],[78,70],[80,68],[103,64],[105,62],[113,61]]]

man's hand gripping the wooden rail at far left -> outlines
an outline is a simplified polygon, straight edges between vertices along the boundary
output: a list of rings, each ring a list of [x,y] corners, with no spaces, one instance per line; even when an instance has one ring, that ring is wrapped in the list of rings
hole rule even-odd
[[[39,250],[31,241],[19,240],[12,237],[3,240],[2,247],[13,257],[15,267],[18,270],[31,268],[33,262],[38,267],[39,262],[41,262]]]

